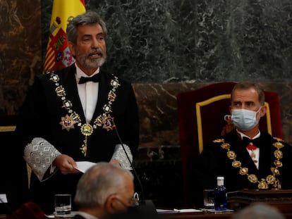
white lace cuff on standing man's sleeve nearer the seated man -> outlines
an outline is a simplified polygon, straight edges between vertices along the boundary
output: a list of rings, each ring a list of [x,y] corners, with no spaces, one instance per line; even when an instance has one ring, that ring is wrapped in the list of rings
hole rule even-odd
[[[125,148],[128,157],[127,154],[125,154],[125,151],[123,151],[123,147]],[[123,144],[123,147],[121,144],[116,144],[116,148],[114,149],[114,155],[112,156],[111,159],[117,160],[122,168],[132,168],[130,162],[131,163],[133,162],[133,155],[130,152],[130,148],[128,145]]]

